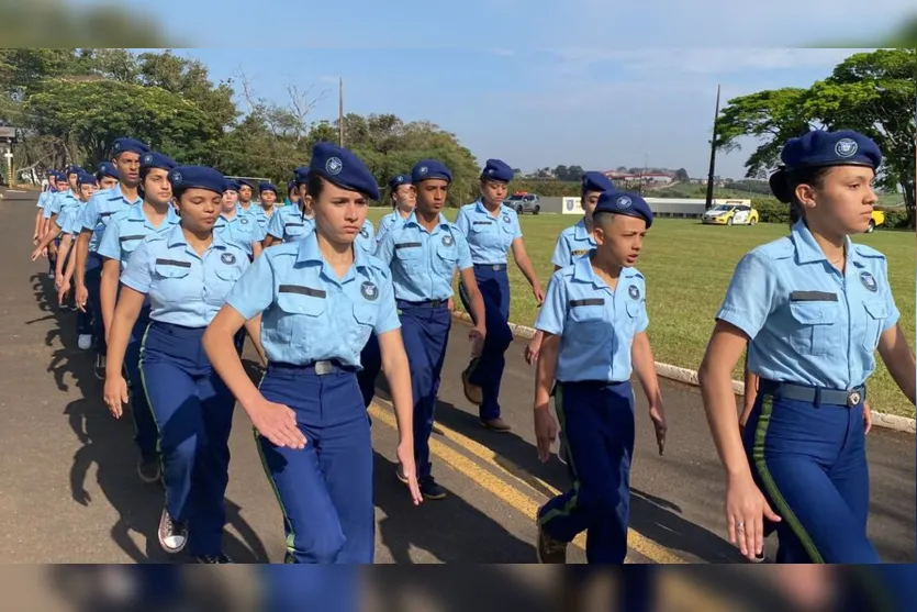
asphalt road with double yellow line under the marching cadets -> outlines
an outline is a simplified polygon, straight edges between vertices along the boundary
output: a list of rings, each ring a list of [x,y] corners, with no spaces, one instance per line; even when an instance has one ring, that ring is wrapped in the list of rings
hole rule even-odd
[[[131,420],[109,415],[91,356],[76,346],[76,314],[52,303],[47,263],[29,260],[34,201],[34,194],[10,192],[0,201],[0,563],[169,560],[156,538],[163,492],[136,476]],[[537,460],[534,372],[523,344],[510,348],[502,389],[513,431],[497,434],[480,426],[461,392],[466,332],[454,325],[432,443],[434,471],[450,492],[446,500],[412,508],[395,479],[394,419],[380,380],[371,409],[378,563],[534,563],[534,510],[568,485],[559,461]],[[741,563],[724,539],[723,478],[700,394],[662,385],[670,424],[664,457],[637,393],[628,560]],[[243,563],[281,561],[280,512],[239,408],[231,448],[225,550]],[[869,460],[870,536],[885,560],[914,563],[914,436],[873,430]],[[574,544],[570,560],[582,563],[582,538]],[[774,548],[771,538],[768,552]]]

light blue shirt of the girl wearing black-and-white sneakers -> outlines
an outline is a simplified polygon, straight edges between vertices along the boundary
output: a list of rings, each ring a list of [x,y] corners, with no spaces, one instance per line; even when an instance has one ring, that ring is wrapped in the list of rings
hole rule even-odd
[[[149,296],[153,321],[205,327],[248,266],[245,252],[215,232],[201,257],[188,245],[181,225],[175,225],[144,238],[131,255],[121,282]]]

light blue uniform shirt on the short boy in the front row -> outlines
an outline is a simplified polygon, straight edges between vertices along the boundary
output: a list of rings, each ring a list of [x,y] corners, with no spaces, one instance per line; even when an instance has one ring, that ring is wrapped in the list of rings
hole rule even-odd
[[[630,379],[634,336],[649,326],[646,280],[636,268],[620,270],[611,287],[580,257],[553,274],[535,327],[560,336],[555,378],[559,382]]]

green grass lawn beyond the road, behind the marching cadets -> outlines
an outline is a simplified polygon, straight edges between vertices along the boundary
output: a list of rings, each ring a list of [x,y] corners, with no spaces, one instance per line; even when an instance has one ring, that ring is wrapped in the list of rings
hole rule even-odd
[[[455,219],[456,212],[449,210],[446,215]],[[383,214],[381,210],[373,210],[370,219],[377,223]],[[550,258],[558,234],[578,220],[561,214],[521,218],[526,248],[543,287],[547,287],[553,269]],[[786,233],[785,226],[767,223],[754,227],[720,227],[690,220],[656,220],[637,264],[647,279],[649,334],[656,359],[697,369],[713,330],[714,315],[739,258],[754,246]],[[907,337],[914,338],[914,233],[880,230],[858,236],[856,241],[877,248],[888,258],[892,289],[902,312],[901,323]],[[512,264],[510,282],[513,293],[510,320],[532,325],[537,313],[535,298],[525,277]],[[461,308],[460,303],[458,307]],[[881,359],[879,361],[879,368],[870,379],[872,407],[913,418],[914,407],[892,381]],[[737,367],[735,375],[741,379],[740,368]]]

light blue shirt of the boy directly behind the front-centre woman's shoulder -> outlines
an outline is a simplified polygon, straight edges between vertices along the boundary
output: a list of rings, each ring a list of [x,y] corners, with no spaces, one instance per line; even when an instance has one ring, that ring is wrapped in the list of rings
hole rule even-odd
[[[433,232],[417,223],[413,212],[392,222],[376,256],[391,266],[395,299],[409,302],[451,298],[456,267],[472,266],[465,235],[443,214]]]

